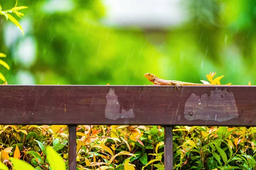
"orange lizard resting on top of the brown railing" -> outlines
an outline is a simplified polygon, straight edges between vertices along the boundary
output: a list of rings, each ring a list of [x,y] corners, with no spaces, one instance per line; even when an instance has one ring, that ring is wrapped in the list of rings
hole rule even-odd
[[[180,82],[180,81],[176,81],[176,80],[165,80],[165,79],[160,79],[158,77],[156,77],[154,74],[144,74],[144,76],[151,82],[154,83],[154,85],[174,85],[174,89],[178,91],[178,85],[180,87],[182,87],[183,85],[205,85],[205,84],[199,84],[199,83],[191,83],[191,82]]]

